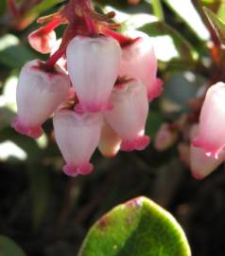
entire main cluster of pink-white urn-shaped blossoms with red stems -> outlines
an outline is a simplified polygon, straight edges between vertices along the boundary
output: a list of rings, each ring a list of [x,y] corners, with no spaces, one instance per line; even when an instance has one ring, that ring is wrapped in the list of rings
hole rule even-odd
[[[162,93],[150,38],[140,31],[112,30],[101,23],[109,16],[99,17],[87,1],[70,1],[28,37],[30,46],[51,53],[59,45],[54,28],[68,22],[50,59],[34,60],[21,70],[12,126],[40,137],[43,122],[53,115],[63,172],[71,176],[92,172],[90,158],[97,147],[108,157],[145,149],[148,102]]]

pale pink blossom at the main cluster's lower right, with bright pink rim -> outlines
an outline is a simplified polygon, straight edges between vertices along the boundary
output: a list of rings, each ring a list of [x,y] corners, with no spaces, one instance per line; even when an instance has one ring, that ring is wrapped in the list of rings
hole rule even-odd
[[[148,102],[147,90],[142,82],[133,80],[115,86],[111,96],[113,110],[105,118],[113,130],[122,137],[121,150],[143,150],[149,143],[145,136]]]

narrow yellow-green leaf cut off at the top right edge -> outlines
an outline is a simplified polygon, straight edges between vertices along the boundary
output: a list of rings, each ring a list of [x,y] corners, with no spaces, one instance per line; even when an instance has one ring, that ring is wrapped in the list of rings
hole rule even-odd
[[[219,19],[216,14],[208,9],[203,8],[208,20],[210,21],[212,27],[214,27],[216,31],[216,35],[222,45],[225,45],[225,23],[222,22],[221,19]]]

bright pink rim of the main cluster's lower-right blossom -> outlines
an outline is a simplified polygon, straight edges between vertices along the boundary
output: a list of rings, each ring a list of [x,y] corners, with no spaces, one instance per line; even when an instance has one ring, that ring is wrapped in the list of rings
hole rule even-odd
[[[122,151],[130,152],[133,150],[144,150],[150,143],[150,138],[147,136],[136,137],[132,141],[123,140],[120,146]]]

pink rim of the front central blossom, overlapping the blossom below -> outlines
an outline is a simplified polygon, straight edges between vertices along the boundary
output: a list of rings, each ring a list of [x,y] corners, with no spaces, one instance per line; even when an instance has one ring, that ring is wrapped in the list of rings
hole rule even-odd
[[[81,104],[78,103],[75,107],[75,110],[78,114],[83,114],[83,113],[97,113],[97,112],[102,112],[102,111],[110,111],[113,109],[113,105],[110,104],[109,102],[105,104]]]

